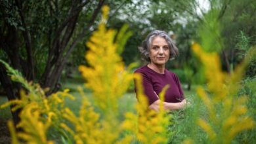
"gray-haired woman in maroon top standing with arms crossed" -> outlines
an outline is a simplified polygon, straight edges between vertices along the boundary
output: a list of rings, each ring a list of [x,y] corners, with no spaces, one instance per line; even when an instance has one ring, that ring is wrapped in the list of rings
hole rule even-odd
[[[179,54],[178,48],[165,31],[155,30],[148,34],[139,50],[148,61],[137,69],[135,73],[142,75],[144,94],[148,97],[149,108],[159,111],[160,94],[162,88],[169,84],[165,92],[163,107],[165,110],[182,109],[186,99],[182,92],[181,83],[177,75],[165,69],[165,63]],[[136,92],[135,84],[135,92]]]

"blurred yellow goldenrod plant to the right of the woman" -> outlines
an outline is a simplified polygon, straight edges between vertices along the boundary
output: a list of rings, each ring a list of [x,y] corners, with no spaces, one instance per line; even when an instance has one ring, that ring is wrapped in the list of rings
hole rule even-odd
[[[203,63],[209,90],[207,94],[202,87],[197,89],[198,96],[209,113],[209,122],[199,118],[197,123],[207,133],[211,143],[231,143],[239,132],[255,126],[253,118],[246,116],[246,97],[234,96],[240,88],[247,60],[245,58],[230,76],[221,70],[219,56],[215,52],[203,52],[196,43],[192,45],[192,49]]]

